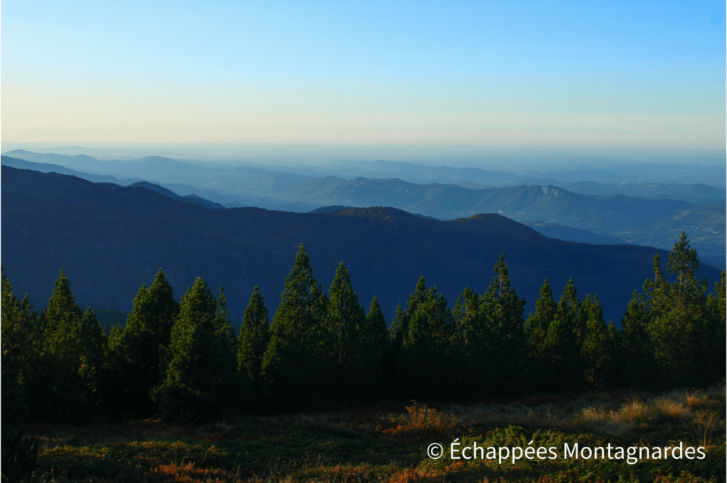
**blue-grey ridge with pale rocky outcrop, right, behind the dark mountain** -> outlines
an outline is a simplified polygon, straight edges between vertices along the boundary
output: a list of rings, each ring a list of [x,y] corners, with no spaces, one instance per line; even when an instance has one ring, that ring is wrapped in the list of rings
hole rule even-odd
[[[725,203],[643,200],[624,195],[580,195],[555,186],[472,190],[455,184],[415,184],[401,179],[306,179],[278,193],[306,211],[319,206],[393,206],[436,219],[499,213],[619,238],[634,245],[670,248],[687,232],[698,251],[725,256]],[[571,234],[571,236],[574,236]]]

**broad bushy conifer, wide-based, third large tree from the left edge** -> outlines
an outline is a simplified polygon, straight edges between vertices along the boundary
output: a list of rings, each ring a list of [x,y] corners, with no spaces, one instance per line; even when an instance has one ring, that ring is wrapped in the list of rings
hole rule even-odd
[[[225,296],[214,299],[197,278],[180,301],[169,347],[162,357],[163,382],[151,393],[168,421],[213,421],[238,404],[236,338]]]

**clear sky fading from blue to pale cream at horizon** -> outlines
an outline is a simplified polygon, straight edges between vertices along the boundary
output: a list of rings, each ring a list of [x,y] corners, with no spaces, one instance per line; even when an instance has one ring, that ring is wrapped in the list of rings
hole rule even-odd
[[[1,140],[723,153],[725,11],[720,1],[5,0]]]

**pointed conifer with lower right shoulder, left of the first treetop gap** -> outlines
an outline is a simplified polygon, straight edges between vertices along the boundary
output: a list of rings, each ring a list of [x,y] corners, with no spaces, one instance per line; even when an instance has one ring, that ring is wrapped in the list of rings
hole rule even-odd
[[[101,409],[99,391],[106,338],[95,313],[83,312],[60,271],[55,289],[41,314],[44,398],[41,413],[48,421],[92,421]]]

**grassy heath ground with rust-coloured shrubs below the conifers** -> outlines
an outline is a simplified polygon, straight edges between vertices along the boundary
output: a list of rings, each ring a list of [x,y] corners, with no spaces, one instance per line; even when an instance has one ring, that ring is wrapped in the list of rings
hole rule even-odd
[[[241,417],[207,426],[145,420],[29,426],[33,482],[725,482],[725,387],[664,394],[530,397],[461,405],[378,405]],[[558,458],[453,460],[450,444],[556,447]],[[532,443],[529,443],[531,442]],[[434,460],[427,447],[439,442]],[[581,447],[704,446],[706,457],[563,458]],[[456,447],[461,449],[462,445]],[[458,454],[458,453],[456,453]],[[531,453],[532,454],[532,453]]]

